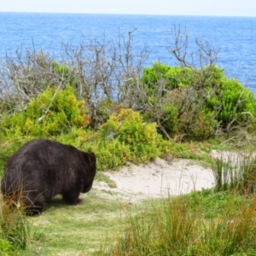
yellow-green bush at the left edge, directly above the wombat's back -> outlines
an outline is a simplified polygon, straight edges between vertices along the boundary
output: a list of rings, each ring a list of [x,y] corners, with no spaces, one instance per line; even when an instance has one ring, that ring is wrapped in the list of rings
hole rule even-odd
[[[3,118],[3,135],[21,137],[48,137],[70,131],[71,127],[84,127],[89,124],[84,102],[79,102],[72,87],[65,90],[48,87],[39,94],[21,113]],[[48,111],[47,111],[48,109]]]

